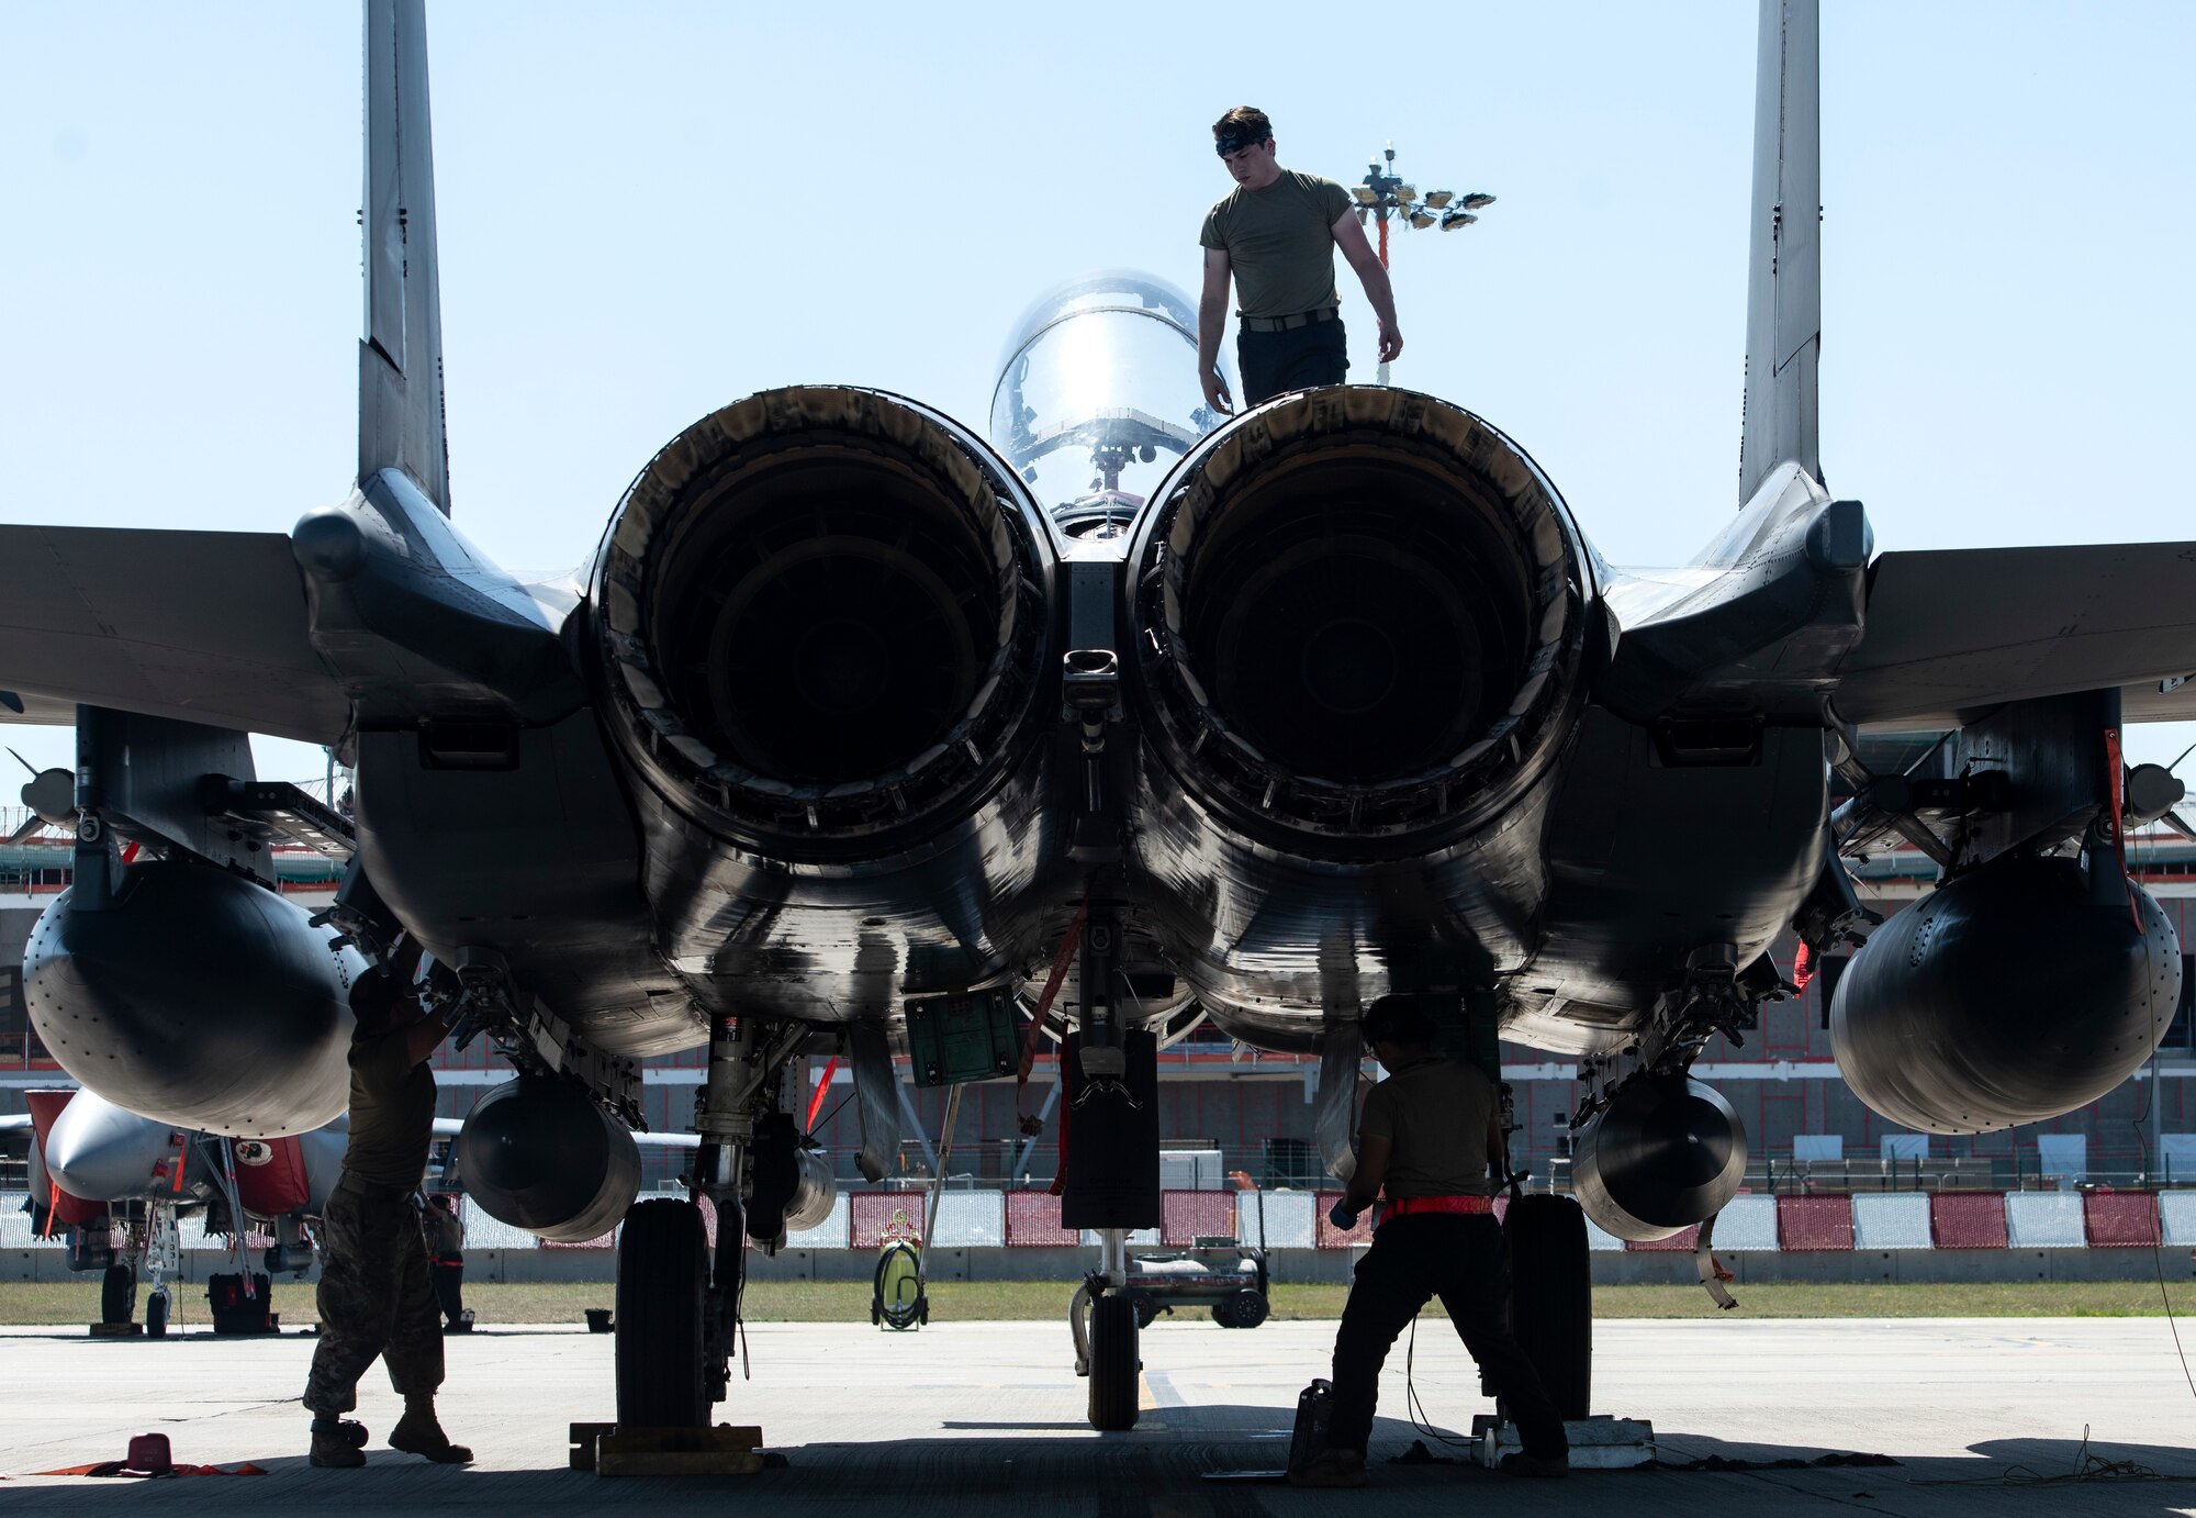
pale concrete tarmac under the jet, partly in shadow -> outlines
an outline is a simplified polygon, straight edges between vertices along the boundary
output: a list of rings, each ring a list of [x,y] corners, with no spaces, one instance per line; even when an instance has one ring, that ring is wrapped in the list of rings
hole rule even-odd
[[[2196,1351],[2196,1333],[2187,1336]],[[237,1514],[277,1505],[483,1511],[716,1511],[799,1518],[1296,1518],[1359,1505],[1526,1514],[2196,1514],[2196,1391],[2161,1318],[1599,1322],[1594,1408],[1651,1419],[1662,1461],[1812,1461],[1889,1454],[1880,1467],[1577,1472],[1511,1481],[1469,1465],[1390,1463],[1421,1439],[1403,1344],[1381,1384],[1368,1492],[1217,1485],[1208,1470],[1280,1465],[1296,1393],[1322,1375],[1331,1322],[1225,1331],[1162,1320],[1144,1333],[1144,1417],[1094,1435],[1065,1322],[758,1325],[753,1380],[727,1421],[762,1424],[788,1465],[744,1478],[602,1478],[564,1467],[567,1424],[608,1419],[610,1338],[496,1329],[450,1340],[444,1424],[466,1470],[369,1446],[360,1472],[305,1465],[296,1395],[312,1340],[92,1342],[83,1331],[0,1329],[0,1511]],[[738,1369],[736,1369],[738,1373]],[[1432,1428],[1487,1410],[1447,1322],[1419,1325],[1414,1382]],[[376,1369],[358,1417],[386,1435],[397,1399]],[[2086,1454],[2121,1478],[2069,1481]],[[158,1483],[37,1476],[119,1459],[165,1432],[178,1463],[268,1470]],[[1436,1454],[1449,1454],[1427,1439]],[[2143,1476],[2139,1472],[2154,1472]]]

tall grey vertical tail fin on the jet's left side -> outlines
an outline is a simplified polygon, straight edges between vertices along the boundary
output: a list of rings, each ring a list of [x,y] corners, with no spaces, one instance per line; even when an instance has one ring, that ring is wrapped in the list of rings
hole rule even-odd
[[[426,0],[367,0],[367,202],[360,224],[367,332],[358,345],[358,479],[400,468],[448,516]]]

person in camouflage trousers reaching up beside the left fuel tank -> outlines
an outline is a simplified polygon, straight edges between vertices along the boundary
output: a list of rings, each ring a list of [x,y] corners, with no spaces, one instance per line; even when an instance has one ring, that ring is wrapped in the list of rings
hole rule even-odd
[[[358,1377],[380,1358],[404,1397],[389,1448],[461,1465],[435,1419],[441,1322],[419,1232],[419,1177],[435,1138],[435,1072],[426,1057],[446,1033],[411,991],[419,947],[351,984],[351,1142],[321,1219],[321,1342],[305,1380],[314,1465],[365,1465],[367,1430],[343,1415],[358,1406]],[[400,980],[402,975],[402,980]]]

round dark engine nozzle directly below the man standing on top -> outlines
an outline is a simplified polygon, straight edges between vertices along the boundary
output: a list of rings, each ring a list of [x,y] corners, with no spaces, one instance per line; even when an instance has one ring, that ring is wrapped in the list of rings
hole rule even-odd
[[[1478,417],[1333,387],[1214,433],[1138,545],[1162,749],[1239,817],[1342,837],[1484,808],[1561,740],[1586,554]]]

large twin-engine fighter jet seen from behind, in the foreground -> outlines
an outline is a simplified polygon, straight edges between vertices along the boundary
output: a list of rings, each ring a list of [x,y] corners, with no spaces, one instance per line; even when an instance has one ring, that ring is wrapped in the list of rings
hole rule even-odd
[[[1206,1015],[1318,1052],[1346,1173],[1357,1013],[1414,991],[1460,1048],[1581,1059],[1579,1199],[1649,1239],[1744,1167],[1693,1057],[1788,993],[1781,931],[1867,927],[1840,850],[1897,833],[1943,883],[1838,986],[1851,1085],[1948,1134],[2093,1101],[2178,995],[2119,857],[2176,786],[2117,736],[2196,710],[2196,545],[1878,556],[1825,492],[1816,31],[1763,0],[1741,505],[1680,569],[1612,569],[1517,442],[1432,395],[1201,411],[1186,301],[1100,275],[1012,336],[988,437],[764,391],[525,582],[450,521],[426,26],[369,0],[351,496],[290,534],[0,527],[0,685],[81,751],[75,888],[24,960],[40,1035],[132,1109],[301,1131],[343,1105],[347,956],[411,934],[518,1072],[468,1123],[483,1206],[600,1232],[635,1195],[635,1061],[707,1043],[692,1182],[769,1248],[830,1188],[788,1061],[850,1057],[874,1175],[894,1048],[990,1076],[1043,1013],[1063,1219],[1118,1285],[1159,1221],[1164,1037]],[[1869,773],[1862,732],[1917,727],[1948,734],[1924,769]],[[356,819],[255,784],[246,729],[336,745]],[[325,923],[255,883],[270,830],[351,852]],[[1568,1202],[1511,1226],[1583,1250]],[[621,1424],[725,1395],[738,1235],[626,1215]],[[1583,1336],[1520,1327],[1583,1413]],[[1089,1362],[1091,1421],[1131,1424],[1118,1292]]]

